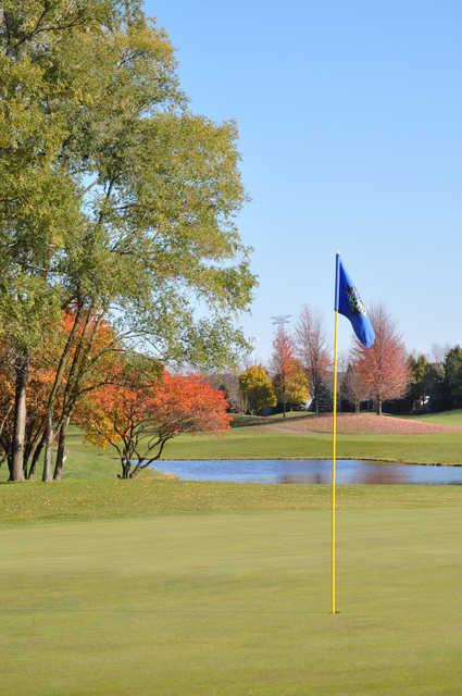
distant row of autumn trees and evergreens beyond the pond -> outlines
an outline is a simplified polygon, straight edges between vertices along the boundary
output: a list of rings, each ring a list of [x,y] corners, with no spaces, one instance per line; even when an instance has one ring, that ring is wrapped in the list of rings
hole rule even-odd
[[[354,341],[339,363],[339,409],[422,413],[462,407],[462,348],[447,347],[433,359],[408,353],[396,324],[383,306],[370,318],[372,348]],[[320,314],[305,306],[292,333],[279,327],[269,365],[216,375],[212,383],[228,395],[236,412],[285,413],[310,408],[332,410],[332,349]],[[209,377],[210,378],[210,377]]]

